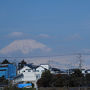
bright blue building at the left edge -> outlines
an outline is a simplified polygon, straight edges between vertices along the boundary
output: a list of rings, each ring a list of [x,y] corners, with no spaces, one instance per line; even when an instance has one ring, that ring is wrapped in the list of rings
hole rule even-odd
[[[13,63],[0,64],[0,77],[2,76],[12,80],[16,76],[16,65]]]

